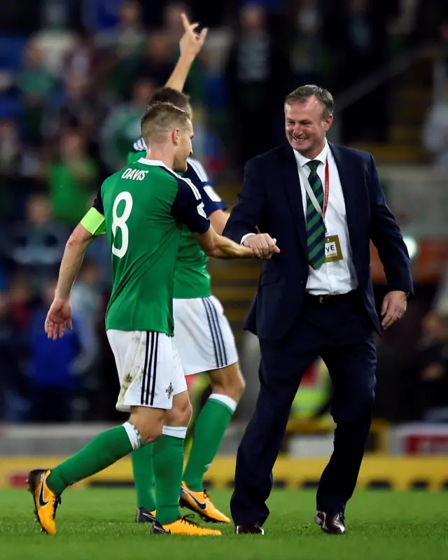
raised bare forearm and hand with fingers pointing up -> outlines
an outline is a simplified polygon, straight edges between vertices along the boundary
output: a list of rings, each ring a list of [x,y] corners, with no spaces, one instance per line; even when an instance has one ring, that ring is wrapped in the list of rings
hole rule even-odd
[[[197,34],[195,33],[195,29],[199,24],[190,24],[185,14],[182,14],[181,18],[184,30],[181,41],[179,42],[181,55],[174,67],[172,75],[169,76],[168,81],[165,84],[165,87],[172,87],[173,90],[177,90],[179,92],[183,90],[188,72],[190,71],[191,65],[193,64],[196,56],[202,49],[202,45],[204,45],[208,31],[207,27],[204,27],[200,34]]]

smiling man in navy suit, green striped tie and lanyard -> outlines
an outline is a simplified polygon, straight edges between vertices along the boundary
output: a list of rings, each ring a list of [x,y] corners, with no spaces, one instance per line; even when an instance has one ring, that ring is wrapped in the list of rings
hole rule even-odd
[[[260,342],[260,393],[238,449],[231,500],[236,533],[262,534],[265,504],[288,416],[305,370],[321,356],[333,384],[334,451],[319,482],[315,517],[344,533],[374,406],[373,330],[405,313],[412,276],[372,155],[329,144],[330,92],[304,85],[286,97],[286,138],[246,163],[224,235],[272,254],[262,267],[245,328]],[[257,233],[257,228],[262,233]],[[267,233],[269,232],[269,235]],[[272,236],[272,237],[271,237]],[[389,292],[375,310],[370,240]]]

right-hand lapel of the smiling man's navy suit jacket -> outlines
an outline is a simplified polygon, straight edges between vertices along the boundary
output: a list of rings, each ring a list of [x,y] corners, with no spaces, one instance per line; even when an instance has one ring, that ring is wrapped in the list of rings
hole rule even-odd
[[[347,157],[339,146],[330,144],[330,150],[332,151],[333,158],[335,158],[339,179],[341,181],[342,193],[344,193],[347,227],[349,228],[350,244],[353,248],[353,245],[356,245],[357,239],[356,221],[358,219],[358,214],[356,208],[359,208],[357,205],[358,189],[356,188],[357,170],[353,167],[351,158]]]

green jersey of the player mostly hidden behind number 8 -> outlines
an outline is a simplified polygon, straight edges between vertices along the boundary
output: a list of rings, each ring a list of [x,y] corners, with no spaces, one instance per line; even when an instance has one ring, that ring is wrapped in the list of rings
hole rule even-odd
[[[132,163],[146,155],[146,151],[139,151],[143,141],[134,144],[137,151],[130,152],[127,162]],[[200,191],[204,210],[207,216],[218,209],[225,210],[225,204],[218,197],[209,184],[209,178],[202,165],[196,160],[188,159],[188,169],[183,177],[190,179],[197,190]],[[211,295],[211,278],[207,270],[209,259],[195,241],[188,228],[184,227],[181,233],[179,254],[174,267],[174,299],[193,299],[197,297],[209,297]]]

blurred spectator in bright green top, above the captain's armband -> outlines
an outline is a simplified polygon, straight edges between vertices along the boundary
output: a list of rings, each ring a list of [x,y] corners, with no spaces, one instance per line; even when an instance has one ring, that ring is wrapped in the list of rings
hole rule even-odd
[[[47,170],[52,213],[55,220],[73,227],[98,189],[99,169],[97,162],[87,155],[81,130],[64,131],[60,143],[59,158]]]

